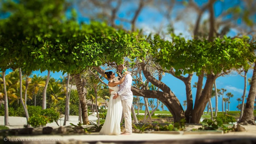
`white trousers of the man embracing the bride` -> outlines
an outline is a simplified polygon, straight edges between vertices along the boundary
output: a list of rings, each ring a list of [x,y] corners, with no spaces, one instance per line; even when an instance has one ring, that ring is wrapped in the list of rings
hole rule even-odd
[[[122,100],[123,104],[123,117],[125,120],[125,132],[132,133],[132,125],[131,125],[131,106],[133,104],[133,99],[125,99]]]

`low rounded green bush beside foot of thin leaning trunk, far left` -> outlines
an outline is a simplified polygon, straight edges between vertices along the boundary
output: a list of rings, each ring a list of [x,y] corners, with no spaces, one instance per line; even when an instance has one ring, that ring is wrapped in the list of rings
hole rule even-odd
[[[40,127],[45,126],[48,122],[48,118],[46,116],[42,116],[40,114],[33,114],[29,117],[28,124],[32,127]]]

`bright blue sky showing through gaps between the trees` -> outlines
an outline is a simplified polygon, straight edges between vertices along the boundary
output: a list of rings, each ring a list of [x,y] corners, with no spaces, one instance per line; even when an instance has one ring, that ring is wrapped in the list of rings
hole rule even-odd
[[[195,0],[195,2],[201,7],[204,5],[207,0]],[[217,1],[214,4],[214,12],[215,12],[215,17],[218,17],[223,11],[228,9],[229,7],[232,7],[233,5],[240,3],[239,0],[225,0],[224,3],[221,3],[220,1]],[[117,12],[117,16],[121,18],[127,18],[131,19],[134,15],[134,9],[136,8],[136,1],[132,1],[131,3],[127,2],[121,5],[119,11]],[[79,10],[78,10],[78,4],[74,4],[73,7],[77,9],[78,11],[78,20],[79,22],[88,22],[89,18],[82,15]],[[191,33],[189,32],[188,28],[188,21],[195,23],[195,20],[197,18],[197,14],[193,11],[189,11],[185,18],[187,20],[183,21],[175,21],[175,18],[177,17],[178,13],[180,12],[180,9],[182,9],[183,6],[175,6],[173,11],[172,11],[172,20],[173,20],[173,25],[174,25],[174,32],[176,34],[182,33],[183,36],[187,39],[191,38]],[[127,13],[130,11],[130,13]],[[67,11],[67,16],[70,15],[70,11]],[[208,12],[203,14],[202,19],[208,18]],[[228,18],[228,17],[227,17]],[[121,24],[125,28],[130,29],[131,26],[127,22],[120,22],[119,20],[115,21],[116,24]],[[241,23],[241,20],[237,21],[238,23]],[[161,13],[157,9],[155,9],[152,6],[145,7],[139,14],[139,17],[137,18],[136,21],[136,26],[137,28],[143,28],[144,34],[149,34],[150,32],[154,33],[156,30],[163,26],[166,27],[169,24],[169,21],[163,17]],[[165,30],[165,29],[163,29]],[[231,31],[227,34],[228,36],[235,36],[237,33],[236,29],[231,29]],[[7,74],[9,73],[10,70],[7,70]],[[115,70],[114,70],[115,71]],[[247,78],[252,77],[252,70],[248,71],[247,73]],[[47,71],[44,71],[43,73],[40,73],[40,71],[34,71],[33,74],[40,74],[41,76],[47,75]],[[66,75],[66,74],[65,74]],[[62,72],[51,72],[51,77],[54,77],[55,79],[59,79],[60,76],[62,76]],[[198,77],[196,75],[193,76],[191,84],[193,85],[195,82],[197,82]],[[167,74],[163,77],[162,81],[170,87],[170,89],[174,92],[174,94],[177,96],[181,104],[183,104],[183,101],[186,100],[186,91],[185,91],[185,85],[182,81],[179,79],[173,77],[170,74]],[[204,80],[205,83],[206,80]],[[107,82],[107,81],[106,81]],[[238,105],[237,98],[241,98],[243,94],[243,87],[244,87],[244,79],[237,73],[233,73],[230,75],[227,75],[225,77],[219,77],[216,80],[216,85],[218,89],[225,88],[227,89],[227,92],[231,92],[234,94],[234,97],[231,98],[231,103],[230,103],[230,110],[237,110],[236,106]],[[248,96],[249,92],[249,86],[247,83],[247,93],[246,96]],[[195,100],[195,94],[196,94],[196,89],[192,89],[192,94],[193,94],[193,100]],[[224,95],[225,96],[225,95]],[[144,103],[144,100],[142,100]],[[212,105],[215,107],[215,98],[212,98]],[[221,97],[218,100],[218,108],[221,110]],[[184,108],[184,106],[183,106]],[[167,110],[167,108],[164,108]],[[144,106],[143,106],[144,110]]]

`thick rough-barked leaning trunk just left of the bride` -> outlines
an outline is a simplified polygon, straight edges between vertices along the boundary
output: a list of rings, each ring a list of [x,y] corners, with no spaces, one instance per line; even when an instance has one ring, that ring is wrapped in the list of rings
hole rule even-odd
[[[84,125],[90,124],[89,119],[88,119],[88,110],[87,110],[87,102],[86,102],[86,97],[85,97],[85,90],[83,85],[82,85],[82,79],[80,77],[80,74],[74,75],[74,81],[77,87],[77,92],[79,96],[79,100],[81,103],[81,110],[82,110],[82,120]]]

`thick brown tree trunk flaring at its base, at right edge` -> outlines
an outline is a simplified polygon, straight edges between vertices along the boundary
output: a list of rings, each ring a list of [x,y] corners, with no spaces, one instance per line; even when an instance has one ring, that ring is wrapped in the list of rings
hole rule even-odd
[[[251,87],[249,90],[248,98],[246,101],[245,109],[240,124],[252,124],[255,125],[253,116],[254,101],[256,96],[256,61],[253,69],[253,77],[251,78]]]

